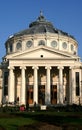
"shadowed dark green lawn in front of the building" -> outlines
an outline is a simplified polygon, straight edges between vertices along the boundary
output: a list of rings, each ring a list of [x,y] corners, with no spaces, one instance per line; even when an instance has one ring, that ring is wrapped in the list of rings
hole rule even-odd
[[[73,125],[82,124],[82,112],[16,112],[0,113],[0,126],[6,130],[17,130],[19,126],[48,123],[52,125]]]

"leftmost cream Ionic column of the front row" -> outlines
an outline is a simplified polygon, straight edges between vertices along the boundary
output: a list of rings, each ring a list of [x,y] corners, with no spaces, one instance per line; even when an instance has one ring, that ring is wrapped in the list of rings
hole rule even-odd
[[[9,80],[8,80],[8,102],[12,103],[15,99],[15,88],[14,88],[14,67],[8,67],[9,69]]]

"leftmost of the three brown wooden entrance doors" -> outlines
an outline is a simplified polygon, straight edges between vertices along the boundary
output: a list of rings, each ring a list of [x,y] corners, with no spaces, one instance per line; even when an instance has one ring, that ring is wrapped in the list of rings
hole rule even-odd
[[[27,86],[27,103],[33,104],[33,85]]]

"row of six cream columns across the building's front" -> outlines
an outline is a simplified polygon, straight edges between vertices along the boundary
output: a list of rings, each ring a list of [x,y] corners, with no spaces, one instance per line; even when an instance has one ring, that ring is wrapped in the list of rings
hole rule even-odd
[[[45,104],[51,104],[51,80],[50,80],[50,70],[51,66],[46,66],[46,86],[45,86]],[[15,67],[8,67],[9,69],[9,83],[8,83],[8,102],[14,102],[15,100],[15,75],[14,69]],[[25,70],[26,66],[21,66],[21,90],[20,90],[20,104],[26,104],[26,81],[25,81]],[[38,69],[39,66],[33,66],[32,69],[34,70],[34,97],[33,100],[38,104]],[[57,104],[64,103],[64,89],[63,89],[63,69],[64,67],[58,66],[57,69],[59,70],[59,84],[57,86]],[[74,71],[73,69],[69,69],[69,102],[74,102],[75,99],[75,86],[74,82]]]

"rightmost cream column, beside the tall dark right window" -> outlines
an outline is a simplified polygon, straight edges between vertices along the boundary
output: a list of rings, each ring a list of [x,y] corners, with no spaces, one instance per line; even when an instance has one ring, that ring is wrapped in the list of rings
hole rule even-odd
[[[75,101],[75,74],[73,67],[69,70],[69,103],[73,104]]]

